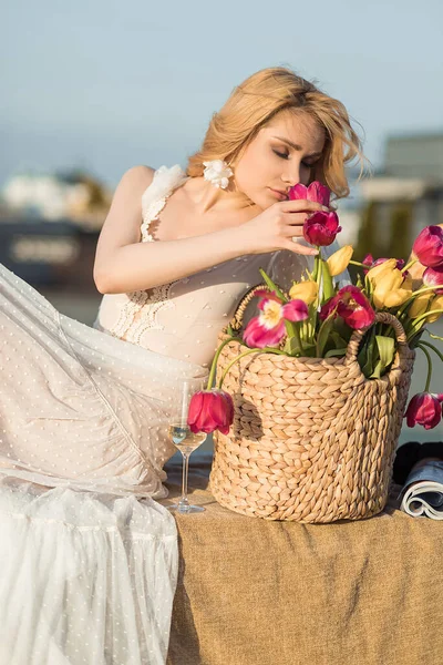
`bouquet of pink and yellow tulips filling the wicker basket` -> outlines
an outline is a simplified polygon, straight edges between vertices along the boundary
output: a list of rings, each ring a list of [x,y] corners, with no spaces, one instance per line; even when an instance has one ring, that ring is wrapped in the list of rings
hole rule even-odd
[[[289,197],[317,201],[329,205],[330,191],[319,182],[306,187],[298,184]],[[285,354],[296,357],[344,356],[356,329],[364,330],[358,361],[368,379],[382,377],[391,367],[396,352],[392,326],[377,323],[375,313],[389,311],[402,324],[410,348],[420,348],[429,364],[424,391],[415,395],[405,411],[406,423],[430,429],[442,418],[443,393],[430,392],[432,375],[431,352],[443,360],[440,350],[422,340],[426,324],[436,321],[443,314],[443,228],[427,226],[416,237],[409,263],[396,258],[374,258],[368,254],[363,260],[352,260],[351,245],[341,247],[328,259],[321,248],[329,246],[341,231],[336,212],[313,213],[303,225],[303,237],[316,246],[312,272],[306,270],[300,282],[293,282],[289,293],[284,293],[260,268],[267,288],[256,290],[258,316],[246,326],[243,336],[228,326],[228,335],[217,349],[210,368],[207,390],[196,393],[189,407],[188,424],[192,431],[227,434],[234,419],[231,397],[223,390],[223,381],[231,365],[239,358],[257,352]],[[413,279],[411,268],[421,264],[421,278]],[[349,265],[357,266],[357,284],[338,288],[336,279]],[[442,339],[436,335],[431,337]],[[224,370],[218,386],[213,387],[218,356],[223,347],[236,339],[245,351]]]

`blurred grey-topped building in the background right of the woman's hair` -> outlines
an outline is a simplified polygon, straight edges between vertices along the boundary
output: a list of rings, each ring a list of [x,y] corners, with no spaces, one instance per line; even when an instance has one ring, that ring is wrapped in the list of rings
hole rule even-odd
[[[443,223],[443,133],[389,137],[381,171],[360,192],[356,255],[408,258],[420,231]]]

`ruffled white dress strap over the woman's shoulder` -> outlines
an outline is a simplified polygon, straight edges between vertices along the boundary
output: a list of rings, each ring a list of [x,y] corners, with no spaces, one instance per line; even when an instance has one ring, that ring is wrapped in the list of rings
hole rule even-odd
[[[188,176],[179,164],[169,167],[161,166],[155,171],[151,185],[146,187],[142,195],[142,243],[154,242],[150,234],[151,222],[158,217],[168,196],[187,178]]]

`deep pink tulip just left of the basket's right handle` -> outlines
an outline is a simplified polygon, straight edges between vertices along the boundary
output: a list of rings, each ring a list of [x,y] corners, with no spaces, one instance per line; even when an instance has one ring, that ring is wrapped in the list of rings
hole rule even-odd
[[[336,311],[344,323],[354,330],[368,328],[375,320],[375,313],[370,301],[361,290],[353,285],[343,286],[330,298],[320,310],[320,319],[324,320]]]

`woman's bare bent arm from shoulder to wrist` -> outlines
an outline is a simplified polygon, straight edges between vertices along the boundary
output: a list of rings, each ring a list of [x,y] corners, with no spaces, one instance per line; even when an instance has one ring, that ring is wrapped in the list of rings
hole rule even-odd
[[[102,294],[168,284],[255,250],[244,225],[179,241],[141,243],[142,195],[153,175],[148,166],[134,166],[115,190],[95,253],[94,282]]]

